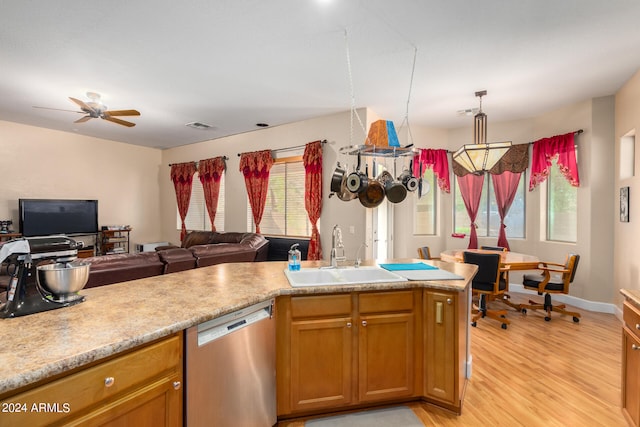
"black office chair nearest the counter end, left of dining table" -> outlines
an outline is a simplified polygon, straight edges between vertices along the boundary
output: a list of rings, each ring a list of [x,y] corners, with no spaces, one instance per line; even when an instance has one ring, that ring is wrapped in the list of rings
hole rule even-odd
[[[502,323],[502,329],[507,329],[511,322],[507,320],[506,310],[493,310],[487,307],[489,301],[502,300],[508,289],[500,268],[500,254],[486,254],[477,252],[464,252],[464,262],[478,266],[478,272],[471,281],[473,295],[478,297],[478,303],[474,303],[471,313],[471,326],[477,326],[480,318],[489,317]]]

